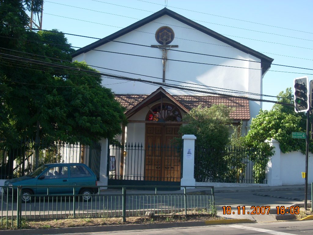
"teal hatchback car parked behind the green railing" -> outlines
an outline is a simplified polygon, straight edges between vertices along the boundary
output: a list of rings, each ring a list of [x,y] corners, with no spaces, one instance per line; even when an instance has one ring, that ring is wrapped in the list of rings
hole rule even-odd
[[[30,202],[31,195],[47,195],[47,188],[42,186],[49,186],[49,195],[73,195],[75,187],[75,194],[81,194],[84,201],[90,200],[92,194],[98,191],[93,187],[97,186],[95,174],[82,163],[45,164],[30,175],[6,180],[4,186],[8,186],[4,187],[4,194],[12,193],[13,187],[10,186],[23,186],[22,202]]]

